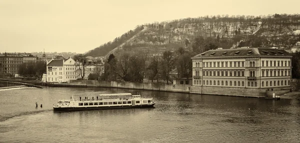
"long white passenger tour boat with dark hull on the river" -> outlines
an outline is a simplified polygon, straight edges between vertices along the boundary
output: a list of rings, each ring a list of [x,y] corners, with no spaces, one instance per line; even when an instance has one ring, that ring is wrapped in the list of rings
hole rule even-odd
[[[96,109],[119,109],[119,108],[148,108],[153,107],[153,98],[142,98],[140,95],[131,93],[100,94],[96,98],[88,97],[79,100],[59,100],[57,105],[53,105],[54,111],[81,111]]]

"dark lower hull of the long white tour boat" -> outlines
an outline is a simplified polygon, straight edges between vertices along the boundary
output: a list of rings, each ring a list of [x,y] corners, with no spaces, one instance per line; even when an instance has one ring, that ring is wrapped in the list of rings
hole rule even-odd
[[[155,104],[155,103],[154,103]],[[105,109],[122,109],[122,108],[153,108],[151,105],[127,105],[127,106],[106,106],[106,107],[53,107],[53,111],[83,111],[83,110],[105,110]]]

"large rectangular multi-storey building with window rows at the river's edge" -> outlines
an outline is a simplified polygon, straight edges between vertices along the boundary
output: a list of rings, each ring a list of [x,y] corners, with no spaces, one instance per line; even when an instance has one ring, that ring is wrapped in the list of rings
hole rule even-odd
[[[209,50],[192,64],[190,93],[263,97],[291,89],[291,56],[283,49]]]

